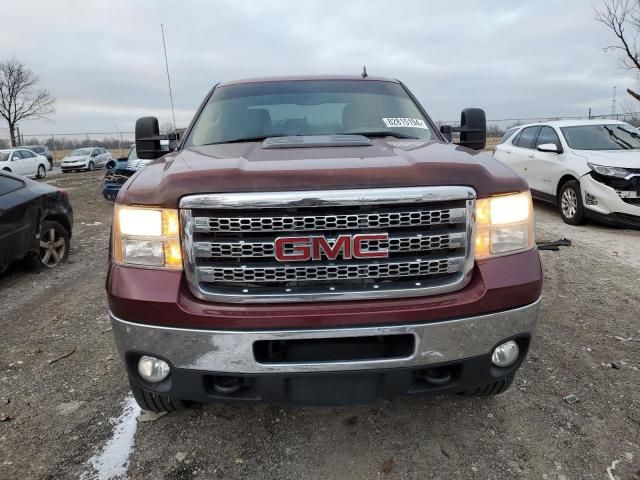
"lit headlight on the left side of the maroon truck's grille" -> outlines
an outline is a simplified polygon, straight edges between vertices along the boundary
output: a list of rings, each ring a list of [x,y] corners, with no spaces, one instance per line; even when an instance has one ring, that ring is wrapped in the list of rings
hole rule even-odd
[[[113,259],[120,265],[182,269],[178,210],[116,205]]]

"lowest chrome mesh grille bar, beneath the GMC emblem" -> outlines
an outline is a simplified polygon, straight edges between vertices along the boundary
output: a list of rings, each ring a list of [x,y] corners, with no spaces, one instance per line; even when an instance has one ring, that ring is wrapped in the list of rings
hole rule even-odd
[[[387,279],[461,272],[464,257],[404,262],[349,263],[274,267],[198,267],[203,282],[302,282],[318,280]]]

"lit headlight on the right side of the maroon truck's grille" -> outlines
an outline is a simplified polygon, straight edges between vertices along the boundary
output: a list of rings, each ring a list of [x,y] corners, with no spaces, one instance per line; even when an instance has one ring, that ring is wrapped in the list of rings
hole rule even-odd
[[[533,248],[531,194],[527,191],[477,200],[476,225],[476,260]]]

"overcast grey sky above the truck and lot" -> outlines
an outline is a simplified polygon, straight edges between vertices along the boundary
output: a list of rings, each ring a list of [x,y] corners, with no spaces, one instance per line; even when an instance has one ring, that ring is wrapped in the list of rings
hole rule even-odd
[[[601,0],[5,1],[0,61],[26,63],[57,98],[35,133],[131,131],[169,121],[164,23],[178,126],[219,81],[354,73],[403,80],[435,120],[611,111],[635,83],[593,20]],[[20,21],[18,21],[20,20]],[[6,136],[0,124],[0,136]]]

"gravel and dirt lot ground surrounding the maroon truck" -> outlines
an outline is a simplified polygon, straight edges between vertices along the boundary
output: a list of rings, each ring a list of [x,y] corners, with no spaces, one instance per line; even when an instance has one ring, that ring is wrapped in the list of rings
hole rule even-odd
[[[640,232],[569,227],[536,205],[538,237],[573,246],[541,252],[535,344],[498,397],[206,406],[138,424],[107,320],[101,175],[48,179],[75,208],[69,263],[0,277],[1,479],[640,478]]]

